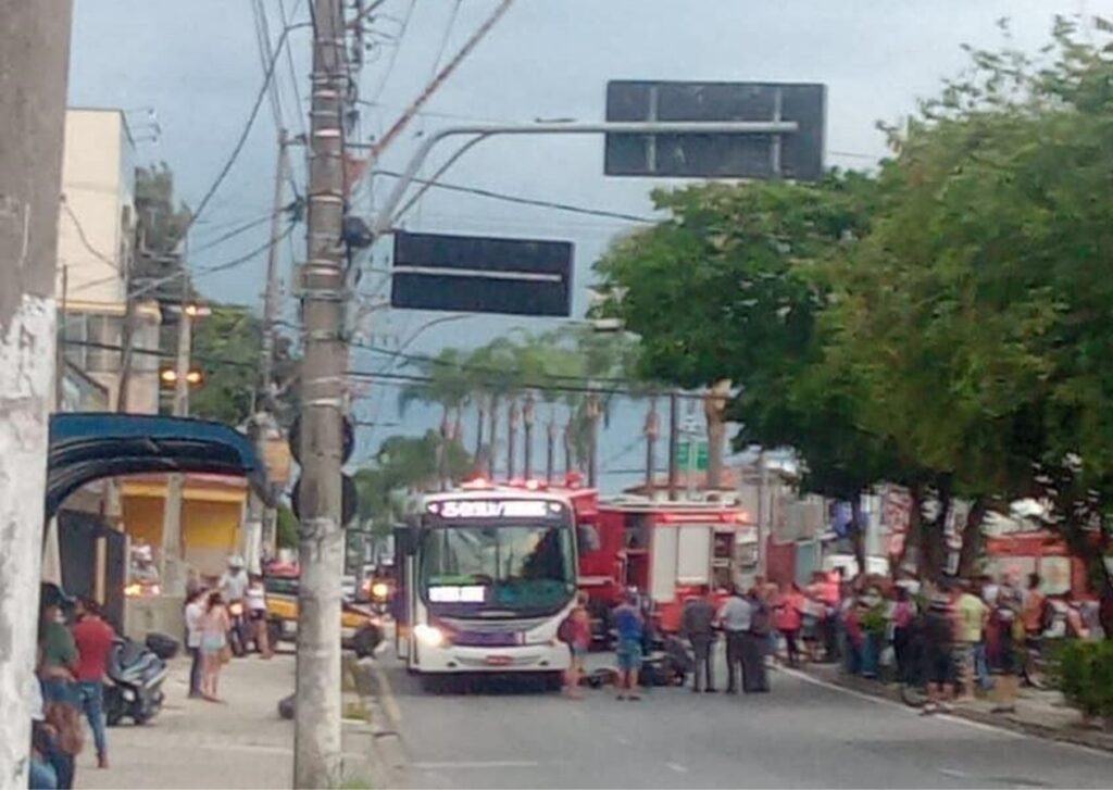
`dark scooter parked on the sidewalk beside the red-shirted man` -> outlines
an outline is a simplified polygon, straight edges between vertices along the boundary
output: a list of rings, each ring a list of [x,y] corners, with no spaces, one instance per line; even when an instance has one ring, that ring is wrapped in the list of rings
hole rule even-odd
[[[162,644],[169,638],[159,635],[159,640]],[[166,650],[160,648],[159,652]],[[173,652],[176,651],[175,642]],[[116,727],[125,718],[136,724],[154,719],[162,708],[162,682],[167,672],[166,660],[150,646],[130,639],[117,639],[108,659],[105,688],[105,719],[108,725]]]

